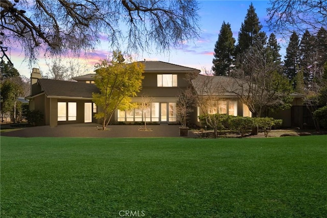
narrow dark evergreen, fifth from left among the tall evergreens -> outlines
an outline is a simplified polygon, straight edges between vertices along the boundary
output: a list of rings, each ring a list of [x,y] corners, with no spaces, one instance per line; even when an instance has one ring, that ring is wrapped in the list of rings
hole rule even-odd
[[[314,48],[315,37],[308,30],[303,34],[300,41],[300,67],[303,70],[305,84],[312,80],[314,74],[313,64],[315,63],[316,50]]]

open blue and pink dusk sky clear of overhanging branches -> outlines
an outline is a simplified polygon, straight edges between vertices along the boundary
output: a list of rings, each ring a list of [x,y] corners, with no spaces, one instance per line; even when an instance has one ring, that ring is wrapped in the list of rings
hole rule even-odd
[[[172,49],[170,53],[167,54],[157,54],[155,52],[149,54],[144,52],[143,54],[132,54],[132,56],[136,61],[144,59],[148,61],[165,61],[200,69],[201,71],[203,71],[204,68],[210,70],[213,65],[212,60],[214,58],[215,43],[218,39],[223,21],[230,23],[233,37],[237,41],[241,23],[244,22],[245,15],[251,2],[263,26],[262,31],[265,31],[267,37],[269,37],[271,32],[265,22],[265,19],[267,19],[266,9],[269,6],[269,1],[199,1],[199,24],[201,33],[198,39],[186,41],[183,43],[183,46],[180,46],[178,49]],[[287,44],[284,43],[285,40],[278,37],[278,35],[277,42],[282,46],[280,53],[282,57],[284,57]],[[100,59],[106,58],[110,54],[110,51],[105,40],[103,40],[92,56],[87,59],[80,58],[79,62],[88,66],[89,71],[87,73],[93,73],[94,64]],[[49,67],[45,64],[44,59],[42,59],[43,54],[40,54],[41,58],[38,64],[32,67],[28,65],[27,61],[23,62],[24,56],[24,52],[21,51],[19,47],[16,47],[10,52],[14,67],[18,69],[20,75],[29,78],[33,67],[40,68],[43,74],[48,71]]]

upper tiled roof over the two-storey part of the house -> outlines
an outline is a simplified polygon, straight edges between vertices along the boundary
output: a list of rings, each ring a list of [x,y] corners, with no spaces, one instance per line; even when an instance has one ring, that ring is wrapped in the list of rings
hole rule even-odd
[[[177,64],[171,64],[163,61],[137,61],[136,63],[143,63],[145,65],[145,72],[198,72],[201,70],[180,66]],[[79,77],[72,78],[73,80],[93,80],[96,74],[87,74]]]

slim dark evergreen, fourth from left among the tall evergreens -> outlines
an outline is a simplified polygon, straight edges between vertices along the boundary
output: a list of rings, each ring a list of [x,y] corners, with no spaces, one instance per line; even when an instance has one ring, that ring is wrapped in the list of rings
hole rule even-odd
[[[292,81],[299,68],[299,49],[298,35],[293,32],[290,37],[290,42],[286,48],[286,56],[284,59],[284,73],[288,79]],[[295,84],[293,84],[293,86],[295,87]]]

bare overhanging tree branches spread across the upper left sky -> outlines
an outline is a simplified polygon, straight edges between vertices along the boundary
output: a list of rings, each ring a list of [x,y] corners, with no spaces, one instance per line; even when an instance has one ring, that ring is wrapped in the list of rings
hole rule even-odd
[[[1,41],[20,43],[30,63],[43,50],[92,51],[102,38],[113,49],[167,51],[199,34],[194,0],[2,0],[1,9]]]

